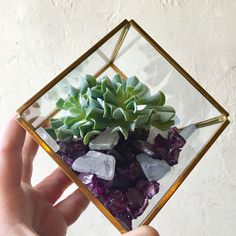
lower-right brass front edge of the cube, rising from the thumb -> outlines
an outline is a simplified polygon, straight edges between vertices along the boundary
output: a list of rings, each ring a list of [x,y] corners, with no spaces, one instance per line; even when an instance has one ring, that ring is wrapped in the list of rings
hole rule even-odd
[[[228,126],[230,121],[226,119],[223,121],[222,125],[216,130],[215,134],[210,138],[208,143],[199,151],[196,157],[189,163],[189,165],[184,169],[182,174],[177,178],[177,180],[172,184],[166,194],[161,198],[161,200],[156,204],[153,210],[145,217],[145,219],[141,222],[140,225],[148,225],[153,218],[157,215],[157,213],[162,209],[162,207],[167,203],[170,197],[175,193],[178,187],[183,183],[183,181],[187,178],[187,176],[191,173],[193,168],[198,164],[198,162],[202,159],[204,154],[208,151],[208,149],[212,146],[212,144],[216,141],[216,139],[220,136],[220,134],[224,131],[224,129]]]

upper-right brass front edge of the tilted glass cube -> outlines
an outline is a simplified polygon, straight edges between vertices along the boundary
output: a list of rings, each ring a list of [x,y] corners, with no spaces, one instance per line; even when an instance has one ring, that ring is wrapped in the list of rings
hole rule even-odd
[[[229,113],[188,73],[185,71],[161,46],[144,31],[134,20],[130,20],[131,26],[133,26],[169,63],[178,70],[185,79],[187,79],[213,106],[224,114],[226,117]]]

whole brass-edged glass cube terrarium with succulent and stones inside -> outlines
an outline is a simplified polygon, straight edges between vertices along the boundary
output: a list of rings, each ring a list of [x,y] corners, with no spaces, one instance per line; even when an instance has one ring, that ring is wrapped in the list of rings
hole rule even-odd
[[[229,123],[227,111],[133,20],[18,114],[122,233],[150,223]]]

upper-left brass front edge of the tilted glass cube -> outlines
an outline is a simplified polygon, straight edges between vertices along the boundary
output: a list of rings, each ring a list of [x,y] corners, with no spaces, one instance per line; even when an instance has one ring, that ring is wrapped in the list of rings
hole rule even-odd
[[[37,101],[44,93],[46,93],[50,88],[52,88],[56,83],[63,79],[68,73],[70,73],[75,67],[77,67],[81,62],[88,58],[92,53],[94,53],[98,48],[100,48],[107,40],[109,40],[115,33],[122,29],[125,25],[129,24],[128,20],[122,21],[118,26],[116,26],[112,31],[105,35],[99,42],[97,42],[92,48],[80,56],[75,62],[73,62],[69,67],[67,67],[63,72],[61,72],[56,78],[49,82],[44,88],[42,88],[38,93],[36,93],[31,99],[29,99],[24,105],[22,105],[17,113],[21,114],[29,106],[31,106],[35,101]]]

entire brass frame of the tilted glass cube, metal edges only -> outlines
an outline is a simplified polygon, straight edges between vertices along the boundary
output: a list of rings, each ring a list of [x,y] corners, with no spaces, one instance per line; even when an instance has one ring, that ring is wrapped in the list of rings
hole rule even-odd
[[[119,30],[122,30],[122,33],[118,39],[117,45],[113,51],[113,54],[110,59],[108,59],[105,55],[101,55],[103,59],[107,62],[107,64],[102,67],[94,76],[98,77],[101,75],[108,67],[111,67],[114,71],[119,73],[122,77],[127,78],[125,74],[114,64],[114,60],[120,50],[121,44],[125,39],[125,36],[132,26],[135,30],[137,30],[142,37],[144,37],[166,60],[177,69],[185,79],[187,79],[208,101],[215,106],[215,108],[220,111],[221,116],[212,118],[210,120],[201,121],[197,123],[197,127],[205,127],[208,125],[222,123],[221,126],[216,130],[208,143],[199,151],[196,157],[191,161],[191,163],[185,168],[182,174],[177,178],[177,180],[172,184],[170,189],[166,192],[166,194],[161,198],[161,200],[157,203],[157,205],[153,208],[153,210],[148,214],[148,216],[142,221],[141,225],[149,224],[152,219],[156,216],[156,214],[161,210],[161,208],[166,204],[169,198],[174,194],[174,192],[178,189],[180,184],[185,180],[185,178],[189,175],[192,169],[197,165],[197,163],[201,160],[203,155],[207,152],[210,146],[215,142],[215,140],[219,137],[219,135],[223,132],[223,130],[229,124],[228,116],[229,113],[213,98],[209,95],[207,91],[205,91],[173,58],[171,58],[134,20],[124,20],[117,27],[115,27],[110,33],[108,33],[104,38],[102,38],[97,44],[95,44],[91,49],[85,52],[81,57],[79,57],[74,63],[72,63],[68,68],[66,68],[61,74],[59,74],[54,80],[52,80],[48,85],[46,85],[42,90],[40,90],[35,96],[33,96],[30,100],[28,100],[23,106],[21,106],[17,112],[18,117],[17,120],[19,123],[32,135],[32,137],[43,147],[43,149],[53,158],[53,160],[63,169],[63,171],[68,175],[68,177],[78,185],[81,191],[97,206],[98,209],[110,220],[110,222],[121,232],[124,233],[127,230],[121,225],[119,221],[99,202],[99,200],[93,196],[93,194],[87,189],[87,187],[81,183],[81,181],[77,178],[77,176],[69,169],[69,167],[58,158],[57,154],[54,153],[51,148],[37,135],[35,132],[35,128],[24,118],[22,117],[23,112],[32,104],[34,104],[44,93],[46,93],[50,88],[52,88],[57,82],[62,80],[68,73],[70,73],[75,67],[77,67],[80,63],[82,63],[85,59],[87,59],[92,53],[98,50],[108,39],[110,39],[115,33]],[[102,52],[99,52],[99,54]],[[55,115],[57,110],[52,112],[50,115]],[[48,119],[49,117],[47,117]],[[43,121],[40,125],[45,124]]]

